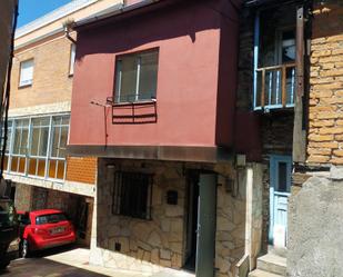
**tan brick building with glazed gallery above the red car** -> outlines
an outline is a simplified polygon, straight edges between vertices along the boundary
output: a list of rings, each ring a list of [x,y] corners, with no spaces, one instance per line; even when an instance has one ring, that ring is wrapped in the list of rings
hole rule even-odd
[[[78,0],[16,32],[4,177],[18,210],[57,208],[90,244],[97,158],[69,157],[75,33],[65,26],[115,6]],[[3,130],[4,131],[4,130]]]

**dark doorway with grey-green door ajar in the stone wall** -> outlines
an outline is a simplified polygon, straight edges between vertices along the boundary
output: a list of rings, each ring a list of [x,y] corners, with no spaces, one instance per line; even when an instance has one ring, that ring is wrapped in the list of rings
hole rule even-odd
[[[188,174],[188,220],[184,269],[214,276],[216,175]]]

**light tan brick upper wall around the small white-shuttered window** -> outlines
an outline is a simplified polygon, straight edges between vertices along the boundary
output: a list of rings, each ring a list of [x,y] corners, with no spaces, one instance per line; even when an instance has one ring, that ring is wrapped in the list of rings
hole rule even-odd
[[[70,47],[68,39],[59,37],[16,51],[11,76],[11,109],[71,101]],[[32,58],[32,86],[19,88],[20,62]]]

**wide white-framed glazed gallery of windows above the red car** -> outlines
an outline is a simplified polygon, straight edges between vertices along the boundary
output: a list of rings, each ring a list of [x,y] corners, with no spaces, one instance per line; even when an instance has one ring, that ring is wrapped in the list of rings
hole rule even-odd
[[[69,118],[69,115],[57,115],[10,119],[4,170],[63,180]]]

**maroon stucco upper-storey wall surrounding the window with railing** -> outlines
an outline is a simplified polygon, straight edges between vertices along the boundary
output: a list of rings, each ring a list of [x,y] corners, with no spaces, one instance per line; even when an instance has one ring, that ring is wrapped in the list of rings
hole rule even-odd
[[[70,146],[232,147],[236,10],[226,1],[183,2],[79,28]],[[152,48],[157,122],[112,125],[111,109],[90,102],[113,96],[119,55]]]

